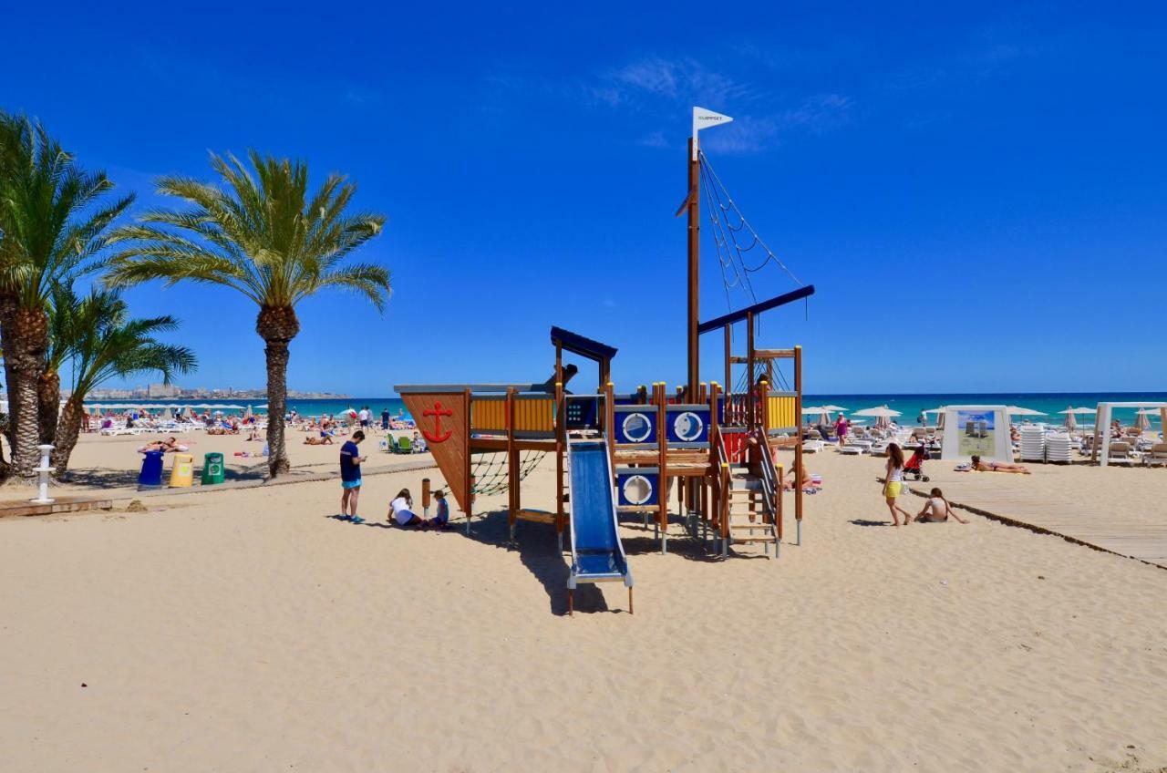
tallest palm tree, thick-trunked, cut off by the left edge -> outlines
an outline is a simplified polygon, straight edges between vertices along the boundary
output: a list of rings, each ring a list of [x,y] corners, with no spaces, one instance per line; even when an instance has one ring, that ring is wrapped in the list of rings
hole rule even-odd
[[[30,479],[40,460],[37,382],[46,364],[51,294],[93,267],[110,227],[133,196],[104,203],[113,188],[104,172],[82,169],[40,123],[23,116],[4,123],[0,343],[9,376],[13,471]]]

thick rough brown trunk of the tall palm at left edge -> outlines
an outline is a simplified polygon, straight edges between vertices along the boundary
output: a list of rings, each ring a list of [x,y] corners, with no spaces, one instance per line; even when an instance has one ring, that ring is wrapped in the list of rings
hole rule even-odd
[[[14,321],[12,370],[15,376],[15,395],[9,395],[8,398],[8,405],[15,406],[16,415],[12,468],[16,475],[33,480],[36,478],[33,471],[41,461],[41,452],[36,447],[41,443],[36,383],[44,367],[44,350],[49,344],[49,316],[43,309],[20,309]],[[6,351],[6,362],[7,354]]]

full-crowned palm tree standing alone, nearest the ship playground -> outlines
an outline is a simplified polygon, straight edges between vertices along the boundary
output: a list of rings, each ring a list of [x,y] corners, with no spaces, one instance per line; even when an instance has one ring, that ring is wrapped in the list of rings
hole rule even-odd
[[[308,167],[300,161],[249,153],[252,169],[233,155],[211,154],[222,187],[167,176],[158,193],[189,208],[154,210],[140,224],[119,229],[128,242],[113,256],[106,281],[134,285],[184,279],[224,285],[259,306],[256,332],[266,344],[268,469],[291,468],[284,444],[288,343],[300,332],[295,305],[326,287],[356,291],[383,309],[389,271],[375,264],[341,265],[380,232],[382,215],[348,214],[356,186],[330,174],[309,197]]]

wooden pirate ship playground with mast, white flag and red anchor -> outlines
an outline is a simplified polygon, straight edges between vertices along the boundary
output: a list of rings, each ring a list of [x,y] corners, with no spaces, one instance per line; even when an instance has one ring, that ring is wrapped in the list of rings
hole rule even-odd
[[[658,382],[619,394],[612,378],[617,349],[559,327],[551,328],[555,370],[547,382],[394,387],[466,514],[467,531],[475,496],[505,490],[511,539],[518,537],[520,521],[552,524],[560,551],[565,535],[569,537],[568,611],[575,586],[598,582],[624,583],[631,611],[633,576],[621,523],[650,529],[662,552],[672,537],[698,541],[720,556],[760,548],[777,558],[792,509],[796,543],[802,544],[802,348],[764,348],[755,337],[762,314],[809,298],[813,285],[767,300],[750,298],[754,302],[743,308],[705,322],[698,316],[701,199],[727,291],[738,286],[752,295],[752,273],[770,263],[785,269],[736,209],[698,146],[700,130],[728,120],[694,109],[689,195],[678,211],[689,216],[684,387],[669,391]],[[753,250],[763,259],[752,266],[746,256]],[[738,354],[735,329],[745,330]],[[700,339],[718,333],[725,342],[725,381],[703,383]],[[565,365],[565,355],[596,364],[593,392],[568,392],[575,367]],[[788,497],[785,466],[776,454],[781,447],[792,451],[796,483]],[[555,461],[555,494],[552,502],[532,507],[524,500],[523,479],[546,454]]]

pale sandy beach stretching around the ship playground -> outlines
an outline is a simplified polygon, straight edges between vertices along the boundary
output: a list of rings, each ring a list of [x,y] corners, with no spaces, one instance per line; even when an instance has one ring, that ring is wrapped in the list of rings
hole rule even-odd
[[[132,458],[120,445],[85,438],[78,468],[117,474],[100,460]],[[5,518],[4,767],[1167,766],[1167,571],[966,513],[894,529],[882,460],[808,466],[825,486],[778,560],[715,560],[677,527],[662,556],[623,529],[635,615],[620,585],[584,587],[565,614],[551,527],[520,524],[513,549],[502,513],[469,538],[386,528],[389,497],[436,469],[370,475],[365,524],[333,517],[335,480]],[[544,464],[527,499],[550,501],[552,480]],[[1167,517],[1163,471],[997,482]]]

